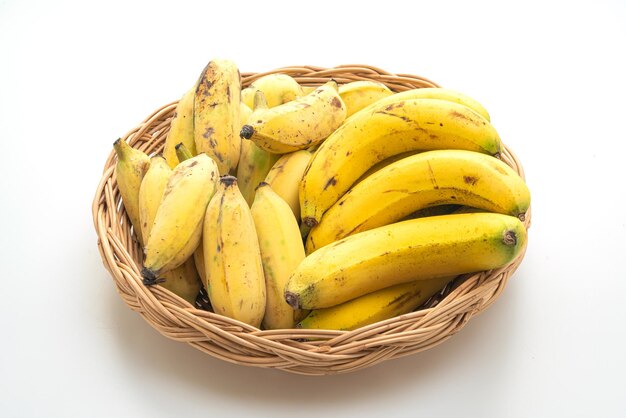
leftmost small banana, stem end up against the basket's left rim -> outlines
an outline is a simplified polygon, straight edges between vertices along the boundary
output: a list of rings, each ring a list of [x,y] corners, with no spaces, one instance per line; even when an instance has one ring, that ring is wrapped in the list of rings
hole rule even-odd
[[[117,187],[137,241],[143,245],[144,240],[139,222],[139,187],[150,166],[150,158],[145,153],[132,148],[121,138],[113,143],[113,148],[117,154],[115,164]]]

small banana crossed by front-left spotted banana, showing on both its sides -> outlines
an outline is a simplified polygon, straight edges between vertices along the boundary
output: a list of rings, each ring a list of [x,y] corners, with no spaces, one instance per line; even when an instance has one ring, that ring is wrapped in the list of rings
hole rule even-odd
[[[146,239],[150,236],[154,218],[171,174],[172,170],[163,157],[155,156],[150,159],[150,168],[139,189],[139,219],[141,233]],[[191,257],[181,266],[163,273],[160,279],[161,286],[192,305],[194,304],[200,292],[201,282]]]

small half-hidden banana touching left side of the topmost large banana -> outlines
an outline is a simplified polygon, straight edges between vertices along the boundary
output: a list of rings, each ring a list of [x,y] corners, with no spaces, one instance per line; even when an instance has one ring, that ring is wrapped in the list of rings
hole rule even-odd
[[[300,182],[312,156],[313,154],[308,150],[284,154],[274,163],[265,177],[265,182],[287,202],[298,222],[300,221]]]

